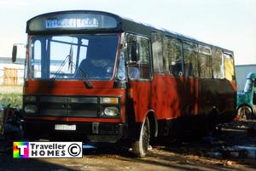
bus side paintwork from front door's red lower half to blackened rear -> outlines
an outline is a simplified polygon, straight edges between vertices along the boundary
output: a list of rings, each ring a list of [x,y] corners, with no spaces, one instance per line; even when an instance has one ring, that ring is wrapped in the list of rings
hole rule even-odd
[[[154,75],[150,82],[131,82],[136,122],[148,111],[158,120],[209,114],[213,106],[220,113],[234,111],[236,83],[219,79]],[[235,111],[234,111],[235,112]]]

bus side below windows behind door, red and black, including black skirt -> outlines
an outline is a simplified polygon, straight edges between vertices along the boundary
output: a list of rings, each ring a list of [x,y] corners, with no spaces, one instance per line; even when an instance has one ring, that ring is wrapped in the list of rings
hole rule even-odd
[[[225,123],[236,117],[236,83],[226,79],[154,75],[152,88],[151,108],[160,136],[203,130],[209,122]]]

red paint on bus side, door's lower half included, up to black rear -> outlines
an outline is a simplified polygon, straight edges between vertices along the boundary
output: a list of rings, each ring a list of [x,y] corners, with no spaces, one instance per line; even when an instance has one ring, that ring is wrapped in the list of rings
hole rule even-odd
[[[197,114],[198,83],[196,79],[154,75],[150,82],[131,82],[136,121],[143,122],[148,111],[157,119],[172,119]]]

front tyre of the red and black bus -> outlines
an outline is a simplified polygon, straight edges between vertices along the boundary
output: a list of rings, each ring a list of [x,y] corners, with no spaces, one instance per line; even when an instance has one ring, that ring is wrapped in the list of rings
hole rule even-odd
[[[141,127],[139,140],[133,142],[131,145],[132,152],[137,157],[145,157],[146,154],[148,153],[149,140],[150,140],[150,125],[147,117]]]

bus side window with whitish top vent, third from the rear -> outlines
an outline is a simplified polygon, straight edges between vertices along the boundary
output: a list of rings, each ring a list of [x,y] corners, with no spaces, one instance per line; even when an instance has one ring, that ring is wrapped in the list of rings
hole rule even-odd
[[[199,77],[212,78],[212,50],[210,47],[199,45]]]

